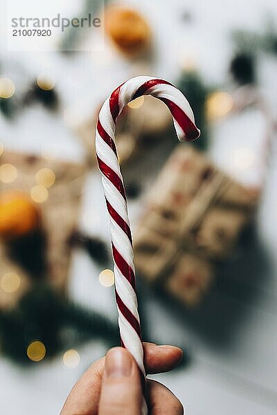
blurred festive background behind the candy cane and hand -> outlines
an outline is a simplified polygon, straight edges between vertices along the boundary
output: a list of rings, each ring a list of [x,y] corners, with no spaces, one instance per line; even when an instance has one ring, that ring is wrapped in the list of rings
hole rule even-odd
[[[143,339],[184,349],[154,378],[187,414],[276,414],[276,2],[0,5],[2,412],[59,413],[119,342],[94,130],[116,86],[152,75],[202,130],[179,144],[150,97],[117,124]],[[13,17],[57,13],[100,28],[12,38]]]

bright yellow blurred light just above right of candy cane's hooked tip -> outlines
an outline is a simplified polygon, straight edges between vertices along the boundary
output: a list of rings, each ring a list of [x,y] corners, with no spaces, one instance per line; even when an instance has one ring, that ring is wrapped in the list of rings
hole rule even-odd
[[[206,100],[206,116],[208,120],[217,120],[226,116],[233,107],[233,98],[227,92],[215,92]]]

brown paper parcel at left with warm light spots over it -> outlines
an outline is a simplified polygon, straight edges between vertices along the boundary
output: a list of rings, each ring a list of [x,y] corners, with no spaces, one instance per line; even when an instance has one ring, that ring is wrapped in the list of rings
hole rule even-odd
[[[67,284],[71,246],[68,240],[78,225],[78,214],[86,168],[82,164],[67,163],[60,160],[46,160],[40,156],[3,151],[0,156],[0,201],[6,195],[15,195],[18,200],[29,201],[39,214],[39,228],[12,241],[0,239],[0,308],[13,306],[32,285],[30,273],[10,256],[10,248],[24,250],[28,255],[28,244],[32,248],[42,242],[42,263],[46,277],[55,288],[64,291]],[[39,184],[40,183],[40,184]],[[46,187],[44,187],[44,185]],[[17,196],[18,195],[18,196]],[[12,196],[13,197],[13,196]],[[33,200],[32,200],[33,199]],[[1,207],[1,230],[3,230],[3,206]],[[20,207],[14,203],[17,212]],[[21,210],[22,212],[22,210]],[[21,219],[12,212],[6,212],[6,225],[11,228],[12,221],[16,231],[21,221],[26,221],[24,211]],[[19,230],[19,229],[18,229]],[[45,239],[44,239],[45,237]],[[37,238],[34,240],[34,238]],[[44,242],[45,241],[45,244]],[[32,249],[30,248],[30,249]],[[35,257],[35,253],[33,254]],[[32,257],[30,257],[32,259]],[[40,260],[40,257],[39,257]],[[43,264],[39,265],[39,270]],[[36,271],[37,274],[37,271]]]

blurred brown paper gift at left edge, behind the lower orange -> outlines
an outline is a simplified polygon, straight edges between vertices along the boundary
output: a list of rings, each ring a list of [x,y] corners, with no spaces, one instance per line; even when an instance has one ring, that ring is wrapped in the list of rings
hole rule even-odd
[[[39,277],[46,277],[58,291],[64,292],[67,286],[72,251],[69,238],[78,226],[82,187],[87,169],[79,163],[48,160],[41,156],[5,150],[0,156],[0,167],[6,163],[16,168],[17,176],[11,183],[9,181],[3,182],[0,177],[0,195],[12,191],[30,196],[32,188],[37,184],[37,172],[47,168],[55,174],[55,183],[48,188],[48,198],[43,203],[35,203],[39,210],[39,216],[42,218],[41,228],[37,234],[26,235],[19,242],[22,249],[28,250],[28,246],[30,246],[30,250],[32,250],[36,241],[42,242],[45,238],[45,245],[42,243],[41,249],[43,250],[42,259],[46,263],[46,275]],[[37,238],[35,241],[34,237]],[[17,243],[17,250],[21,249],[18,247],[18,241],[13,241],[12,246],[15,243]],[[0,284],[0,309],[15,305],[34,282],[33,277],[26,272],[21,264],[10,257],[9,252],[10,243],[0,239],[0,283],[5,275],[12,273],[12,275],[19,276],[20,284],[16,290],[8,292],[3,290]]]

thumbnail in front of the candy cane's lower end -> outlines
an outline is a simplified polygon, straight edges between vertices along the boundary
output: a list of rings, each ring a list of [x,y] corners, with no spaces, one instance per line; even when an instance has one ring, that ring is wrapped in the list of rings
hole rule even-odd
[[[129,376],[132,369],[132,360],[127,351],[116,347],[108,351],[105,361],[107,378],[121,378]]]

